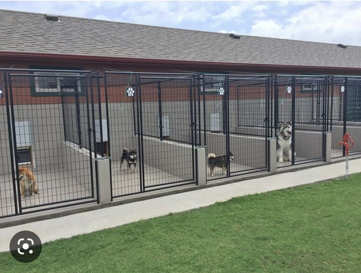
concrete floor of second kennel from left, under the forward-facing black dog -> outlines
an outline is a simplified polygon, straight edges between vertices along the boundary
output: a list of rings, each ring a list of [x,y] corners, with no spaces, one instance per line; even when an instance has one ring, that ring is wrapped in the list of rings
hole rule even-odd
[[[126,164],[123,164],[122,169],[119,170],[120,161],[112,162],[112,191],[113,196],[123,196],[140,192],[140,172],[139,165],[137,166],[137,172],[134,173],[133,167],[131,173],[128,174]],[[191,170],[189,170],[191,172]],[[175,183],[184,181],[185,179],[160,169],[144,164],[144,180],[145,187],[151,187],[156,189],[162,187],[164,184]],[[180,182],[184,184],[187,182]],[[148,188],[148,189],[151,189]]]

